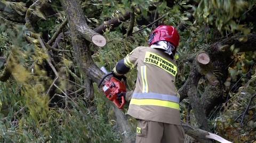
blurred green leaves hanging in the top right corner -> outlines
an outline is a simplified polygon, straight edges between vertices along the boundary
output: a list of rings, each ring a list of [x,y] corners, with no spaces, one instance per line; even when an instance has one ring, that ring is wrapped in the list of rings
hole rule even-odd
[[[235,32],[235,30],[238,30],[247,35],[250,33],[250,29],[238,23],[247,8],[248,3],[243,0],[201,0],[195,15],[198,18],[198,22],[204,21],[207,24],[215,25],[219,31],[229,30]]]

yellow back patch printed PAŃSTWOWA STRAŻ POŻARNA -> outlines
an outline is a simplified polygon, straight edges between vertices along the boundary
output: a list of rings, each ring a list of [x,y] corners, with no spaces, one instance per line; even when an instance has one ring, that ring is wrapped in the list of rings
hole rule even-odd
[[[165,70],[174,77],[177,74],[177,66],[155,53],[146,52],[144,63],[156,65],[158,68]]]

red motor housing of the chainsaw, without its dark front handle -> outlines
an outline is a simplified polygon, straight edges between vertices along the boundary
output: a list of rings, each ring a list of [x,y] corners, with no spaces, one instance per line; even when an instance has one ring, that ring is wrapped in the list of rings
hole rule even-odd
[[[118,108],[122,109],[125,105],[125,98],[121,96],[121,100],[118,99],[119,94],[126,93],[126,85],[124,81],[120,81],[115,77],[111,77],[106,81],[103,86],[103,92],[106,97],[113,102]]]

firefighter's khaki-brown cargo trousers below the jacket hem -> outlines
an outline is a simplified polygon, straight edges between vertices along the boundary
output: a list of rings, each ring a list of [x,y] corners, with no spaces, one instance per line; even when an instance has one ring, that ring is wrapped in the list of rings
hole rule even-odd
[[[138,120],[136,143],[183,143],[181,125]]]

